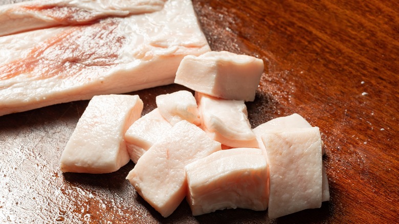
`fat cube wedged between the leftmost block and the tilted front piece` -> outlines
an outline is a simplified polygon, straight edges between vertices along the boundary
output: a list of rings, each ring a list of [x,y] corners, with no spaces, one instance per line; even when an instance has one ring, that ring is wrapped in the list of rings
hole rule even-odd
[[[140,157],[171,128],[172,125],[162,117],[158,108],[139,118],[125,133],[130,159],[137,163]]]

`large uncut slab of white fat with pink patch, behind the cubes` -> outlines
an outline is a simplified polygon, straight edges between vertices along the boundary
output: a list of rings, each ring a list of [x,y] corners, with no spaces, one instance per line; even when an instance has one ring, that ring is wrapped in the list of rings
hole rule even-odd
[[[0,37],[0,115],[173,83],[210,51],[189,0],[160,11]]]

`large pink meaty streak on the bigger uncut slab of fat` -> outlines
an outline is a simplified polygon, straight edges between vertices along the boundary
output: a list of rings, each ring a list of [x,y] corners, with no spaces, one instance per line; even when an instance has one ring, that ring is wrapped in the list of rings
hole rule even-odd
[[[0,80],[20,74],[30,78],[73,78],[76,81],[96,77],[115,66],[124,37],[116,32],[118,18],[70,27],[33,48],[26,58],[0,65]]]

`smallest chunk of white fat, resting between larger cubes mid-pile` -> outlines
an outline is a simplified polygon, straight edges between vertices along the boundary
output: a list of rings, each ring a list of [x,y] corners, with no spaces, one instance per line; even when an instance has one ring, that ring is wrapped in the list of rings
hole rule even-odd
[[[161,115],[172,125],[182,120],[200,125],[197,102],[190,92],[182,90],[159,95],[156,101]]]

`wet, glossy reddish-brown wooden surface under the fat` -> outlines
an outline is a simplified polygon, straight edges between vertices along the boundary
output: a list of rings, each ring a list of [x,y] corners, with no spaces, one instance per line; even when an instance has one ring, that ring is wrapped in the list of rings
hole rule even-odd
[[[10,1],[2,1],[2,3]],[[269,220],[236,209],[193,217],[185,201],[162,218],[125,180],[62,174],[61,152],[88,101],[0,117],[0,220],[9,223],[398,223],[399,3],[193,1],[213,50],[266,65],[253,127],[298,113],[320,127],[331,198],[322,208]],[[144,113],[169,85],[139,94]]]

